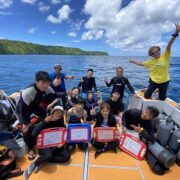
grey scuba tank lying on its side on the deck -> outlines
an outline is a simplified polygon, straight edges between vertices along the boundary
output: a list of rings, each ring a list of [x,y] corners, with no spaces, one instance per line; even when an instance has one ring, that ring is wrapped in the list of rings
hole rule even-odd
[[[148,150],[163,164],[166,168],[171,167],[176,162],[176,156],[162,147],[158,142],[148,145]]]

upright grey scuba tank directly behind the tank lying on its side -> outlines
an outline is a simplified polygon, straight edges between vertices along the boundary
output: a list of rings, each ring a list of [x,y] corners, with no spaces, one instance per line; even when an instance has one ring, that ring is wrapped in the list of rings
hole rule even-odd
[[[174,124],[168,116],[166,116],[166,121],[161,122],[159,124],[158,130],[157,130],[157,140],[162,146],[166,146],[169,140],[169,137],[171,135],[171,132],[174,128]]]

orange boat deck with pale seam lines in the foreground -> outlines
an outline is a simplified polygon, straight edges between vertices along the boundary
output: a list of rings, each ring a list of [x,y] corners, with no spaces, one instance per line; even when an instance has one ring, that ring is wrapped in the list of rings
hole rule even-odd
[[[155,175],[145,160],[138,161],[126,153],[118,150],[117,153],[107,152],[94,159],[95,149],[90,147],[82,152],[78,148],[72,154],[67,164],[49,164],[37,174],[32,174],[30,180],[178,180],[180,168],[174,165],[164,176]],[[19,159],[18,166],[25,170],[31,163],[27,157]],[[23,176],[14,178],[21,180]]]

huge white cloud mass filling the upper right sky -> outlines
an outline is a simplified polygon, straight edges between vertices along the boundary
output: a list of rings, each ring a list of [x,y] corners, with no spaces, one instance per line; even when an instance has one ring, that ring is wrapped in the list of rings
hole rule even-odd
[[[90,17],[81,38],[105,37],[115,48],[144,49],[154,44],[164,45],[162,34],[172,32],[174,22],[180,19],[179,0],[136,0],[124,8],[121,3],[122,0],[113,0],[113,3],[87,0],[84,13]]]

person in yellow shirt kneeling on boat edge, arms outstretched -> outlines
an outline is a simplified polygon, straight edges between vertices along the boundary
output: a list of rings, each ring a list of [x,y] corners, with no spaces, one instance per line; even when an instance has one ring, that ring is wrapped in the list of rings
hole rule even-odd
[[[152,57],[145,62],[139,62],[135,60],[130,60],[129,62],[134,63],[139,66],[144,66],[149,69],[150,72],[150,80],[149,86],[144,94],[145,98],[151,98],[152,93],[156,88],[159,90],[159,100],[166,99],[167,88],[170,81],[169,76],[169,65],[170,65],[170,56],[171,56],[171,46],[175,41],[176,37],[179,35],[180,25],[177,23],[176,32],[172,34],[172,38],[170,39],[165,52],[161,55],[159,46],[152,46],[149,48],[148,54]]]

